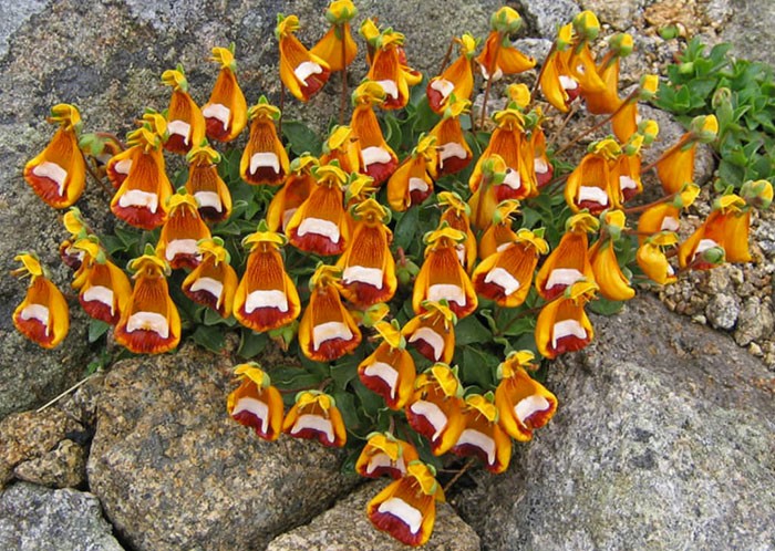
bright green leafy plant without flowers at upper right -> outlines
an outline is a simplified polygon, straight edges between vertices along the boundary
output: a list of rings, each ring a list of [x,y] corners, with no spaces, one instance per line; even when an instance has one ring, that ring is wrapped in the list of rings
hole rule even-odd
[[[766,63],[736,60],[730,44],[707,50],[692,39],[668,67],[655,105],[679,115],[686,125],[693,116],[714,113],[719,138],[713,147],[721,159],[716,191],[747,180],[775,179],[775,83]]]

